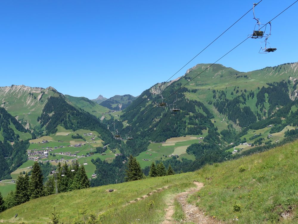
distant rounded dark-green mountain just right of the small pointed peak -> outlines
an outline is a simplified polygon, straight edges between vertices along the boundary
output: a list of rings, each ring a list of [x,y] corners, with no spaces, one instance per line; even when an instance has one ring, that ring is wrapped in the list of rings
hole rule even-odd
[[[137,97],[131,96],[129,94],[120,96],[120,95],[115,95],[103,102],[100,103],[100,105],[109,108],[110,110],[124,110],[125,108],[128,107],[128,105],[131,104]]]

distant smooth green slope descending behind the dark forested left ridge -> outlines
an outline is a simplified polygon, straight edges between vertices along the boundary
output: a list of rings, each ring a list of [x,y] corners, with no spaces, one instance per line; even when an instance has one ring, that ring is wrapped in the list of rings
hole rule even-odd
[[[108,112],[109,109],[105,108],[94,101],[91,101],[85,97],[75,97],[64,95],[66,99],[68,99],[75,106],[82,108],[83,110],[93,114],[94,116],[101,118],[102,113]]]

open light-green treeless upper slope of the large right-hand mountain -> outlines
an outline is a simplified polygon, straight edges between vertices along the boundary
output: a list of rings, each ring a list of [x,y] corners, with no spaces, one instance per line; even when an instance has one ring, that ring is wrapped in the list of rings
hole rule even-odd
[[[195,67],[191,68],[191,71],[187,73],[187,77],[194,78],[199,73],[201,73],[204,69],[206,69],[210,64],[198,64]],[[289,76],[292,76],[294,78],[298,77],[298,70],[295,70],[294,65],[280,65],[277,67],[266,67],[261,70],[255,70],[251,72],[239,72],[237,70],[234,70],[232,68],[224,67],[220,64],[215,64],[206,71],[204,71],[202,74],[200,74],[197,78],[195,78],[193,81],[188,83],[185,87],[193,90],[197,89],[198,91],[196,93],[188,93],[185,92],[185,96],[190,99],[196,99],[198,101],[201,101],[205,103],[205,105],[209,108],[209,110],[214,114],[216,123],[215,126],[218,127],[218,131],[220,132],[223,129],[226,129],[226,122],[219,123],[223,119],[226,121],[227,118],[225,118],[223,115],[219,114],[213,105],[208,105],[207,102],[212,99],[213,93],[212,90],[218,90],[218,91],[224,91],[226,92],[226,96],[228,99],[232,99],[235,96],[241,95],[241,90],[244,92],[246,89],[247,92],[245,95],[247,95],[251,90],[254,92],[255,96],[254,99],[249,98],[249,100],[246,101],[246,105],[249,106],[253,112],[258,111],[258,108],[256,108],[255,104],[257,101],[256,94],[258,92],[258,87],[261,88],[262,86],[268,87],[266,85],[267,82],[280,82],[283,79],[288,80]],[[236,78],[236,76],[242,75],[243,77]],[[244,75],[248,76],[248,78],[245,78]],[[187,80],[184,78],[180,79],[178,82],[181,82],[182,85],[187,83]],[[239,92],[236,94],[236,90],[234,91],[234,88],[236,87],[236,90],[239,90]],[[239,87],[239,88],[237,88]],[[234,95],[231,96],[231,92],[234,92]],[[212,101],[212,102],[213,102]],[[268,99],[267,99],[268,102]],[[241,105],[244,106],[244,105]],[[268,111],[269,104],[265,103],[265,109]],[[229,121],[227,121],[228,123]]]

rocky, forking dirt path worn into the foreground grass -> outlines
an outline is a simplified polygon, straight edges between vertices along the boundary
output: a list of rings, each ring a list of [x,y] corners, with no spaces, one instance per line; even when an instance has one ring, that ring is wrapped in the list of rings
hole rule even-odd
[[[186,216],[186,223],[193,222],[193,223],[200,223],[200,224],[221,224],[218,220],[215,220],[209,216],[204,215],[204,212],[201,211],[195,205],[189,204],[187,202],[188,194],[193,194],[199,191],[202,187],[204,187],[203,183],[200,182],[193,182],[196,185],[196,188],[190,188],[186,192],[182,192],[176,196],[176,199],[182,206],[184,214]],[[166,209],[165,219],[162,224],[175,224],[178,223],[172,219],[172,215],[174,214],[174,206],[173,200],[170,201],[169,207]],[[181,222],[179,222],[181,223]]]

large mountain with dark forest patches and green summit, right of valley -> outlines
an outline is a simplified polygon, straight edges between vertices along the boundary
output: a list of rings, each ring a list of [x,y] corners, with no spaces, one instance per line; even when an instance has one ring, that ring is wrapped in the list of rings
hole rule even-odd
[[[173,93],[179,90],[175,103],[180,111],[175,113],[169,107],[155,106],[161,98],[156,94],[161,93],[160,89],[146,99],[161,85],[156,84],[145,90],[120,116],[121,121],[132,124],[130,134],[134,136],[133,140],[121,144],[120,151],[137,156],[147,150],[150,142],[200,135],[207,130],[204,141],[187,149],[188,154],[195,155],[195,161],[172,157],[164,163],[171,164],[175,171],[190,171],[205,163],[233,158],[235,155],[226,150],[246,142],[243,136],[250,133],[249,130],[271,125],[270,133],[276,133],[287,125],[296,125],[297,101],[293,99],[297,88],[297,65],[287,63],[243,73],[222,65],[208,68],[208,64],[199,64],[163,88],[167,105],[175,101],[176,94]],[[112,127],[117,120],[112,118],[104,122]],[[130,131],[130,126],[124,126],[122,122],[117,122],[116,128],[122,129],[122,136]],[[266,142],[261,136],[255,134],[249,140],[254,139],[252,145],[270,148],[274,142],[270,139]]]

